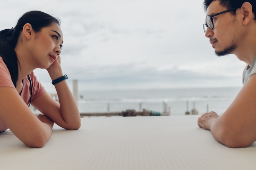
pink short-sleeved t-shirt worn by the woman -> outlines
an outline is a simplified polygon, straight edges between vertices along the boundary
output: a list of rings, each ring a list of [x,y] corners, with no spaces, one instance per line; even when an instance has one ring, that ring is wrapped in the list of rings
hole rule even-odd
[[[43,95],[43,93],[46,93],[45,88],[38,82],[36,79],[36,76],[34,75],[34,72],[31,72],[30,74],[31,82],[33,86],[33,94],[32,99],[35,99],[36,97]],[[13,85],[13,82],[11,81],[11,74],[7,68],[7,66],[4,64],[4,61],[2,60],[2,57],[0,57],[0,87],[12,87],[15,88]],[[4,96],[0,96],[4,97]],[[23,79],[23,88],[20,94],[20,97],[24,100],[24,102],[28,105],[30,102],[31,97],[31,86],[30,86],[30,80],[29,77],[26,76]],[[0,119],[0,132],[7,129],[7,126],[4,124],[4,122]]]

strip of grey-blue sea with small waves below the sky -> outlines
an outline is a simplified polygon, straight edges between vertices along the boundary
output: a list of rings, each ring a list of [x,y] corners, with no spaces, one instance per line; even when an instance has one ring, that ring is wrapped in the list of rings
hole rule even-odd
[[[134,109],[163,112],[170,115],[198,114],[215,111],[222,114],[233,102],[241,87],[168,88],[136,90],[79,91],[80,113],[121,112]]]

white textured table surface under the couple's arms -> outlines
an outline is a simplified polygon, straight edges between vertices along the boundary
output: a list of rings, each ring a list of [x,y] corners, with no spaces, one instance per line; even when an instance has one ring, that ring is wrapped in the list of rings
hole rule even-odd
[[[3,170],[255,170],[256,143],[228,148],[198,115],[84,117],[79,130],[54,125],[43,148],[0,134]]]

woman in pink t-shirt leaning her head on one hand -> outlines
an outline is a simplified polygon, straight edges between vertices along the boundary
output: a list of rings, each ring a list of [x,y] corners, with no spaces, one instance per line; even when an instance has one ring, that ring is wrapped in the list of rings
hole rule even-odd
[[[15,28],[0,31],[0,132],[9,128],[29,147],[43,147],[54,122],[67,130],[81,126],[61,69],[62,44],[60,21],[40,11],[27,12]],[[59,103],[38,82],[35,68],[48,71]],[[30,104],[43,115],[36,117]]]

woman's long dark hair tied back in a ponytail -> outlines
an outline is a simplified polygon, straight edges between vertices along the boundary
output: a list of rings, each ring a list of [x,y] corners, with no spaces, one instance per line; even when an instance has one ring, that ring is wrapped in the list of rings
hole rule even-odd
[[[20,32],[27,23],[31,24],[35,32],[50,26],[52,23],[60,25],[60,20],[41,11],[29,11],[20,17],[16,26],[12,29],[0,31],[0,57],[2,57],[11,74],[11,80],[16,87],[18,80],[18,58],[14,48],[18,42]]]

